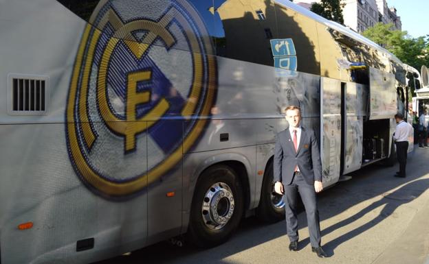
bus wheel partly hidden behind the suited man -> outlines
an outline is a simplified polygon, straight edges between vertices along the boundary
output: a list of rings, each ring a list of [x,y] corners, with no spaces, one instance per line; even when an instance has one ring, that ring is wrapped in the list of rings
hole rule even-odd
[[[273,194],[273,163],[265,170],[262,183],[261,200],[256,208],[256,216],[261,221],[272,224],[285,219],[285,201],[282,195]]]

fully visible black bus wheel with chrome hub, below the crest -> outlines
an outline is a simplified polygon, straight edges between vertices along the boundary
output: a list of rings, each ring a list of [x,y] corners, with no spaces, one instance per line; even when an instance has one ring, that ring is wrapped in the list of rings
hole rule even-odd
[[[204,171],[190,209],[188,235],[195,245],[210,248],[227,241],[243,215],[243,191],[239,177],[227,165]]]

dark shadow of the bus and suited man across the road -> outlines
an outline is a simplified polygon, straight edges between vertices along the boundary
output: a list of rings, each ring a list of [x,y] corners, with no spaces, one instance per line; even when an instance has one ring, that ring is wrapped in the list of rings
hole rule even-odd
[[[360,212],[355,213],[347,219],[333,224],[328,228],[322,229],[322,240],[323,236],[330,232],[352,224],[367,213],[383,206],[380,214],[373,220],[323,245],[323,248],[329,256],[333,256],[334,250],[338,245],[360,235],[362,232],[370,230],[386,219],[386,217],[395,213],[395,210],[399,206],[411,202],[426,191],[426,189],[429,189],[429,179],[419,179],[421,176],[424,176],[429,172],[429,167],[424,171],[422,169],[412,169],[412,167],[415,166],[424,166],[424,157],[427,155],[424,150],[422,150],[421,154],[413,156],[414,157],[412,159],[408,160],[409,169],[407,170],[409,176],[407,178],[393,177],[393,174],[397,170],[397,165],[395,167],[370,165],[369,167],[364,167],[359,171],[350,173],[349,175],[353,176],[352,180],[340,182],[336,186],[318,195],[320,221],[335,217],[352,206],[360,204],[360,202],[380,196],[380,200],[366,206],[366,208],[362,209]],[[401,188],[389,192],[403,184],[405,185]],[[305,213],[300,213],[298,220],[299,228],[307,228]],[[98,264],[142,263],[142,261],[144,261],[144,263],[157,264],[191,264],[202,263],[201,260],[203,260],[203,263],[228,263],[228,261],[224,261],[223,259],[285,235],[285,221],[271,225],[263,225],[259,223],[255,217],[250,217],[242,221],[239,230],[237,230],[230,241],[223,245],[219,245],[217,248],[199,250],[189,244],[186,244],[182,248],[178,248],[170,243],[162,242],[151,245],[142,250],[137,250],[133,252],[131,256],[118,256],[109,261],[99,262]],[[300,248],[305,248],[308,244],[309,238],[307,237],[300,241]],[[285,244],[285,250],[287,250],[287,244]],[[311,254],[310,252],[311,250],[309,250],[308,253],[303,252],[303,254]]]

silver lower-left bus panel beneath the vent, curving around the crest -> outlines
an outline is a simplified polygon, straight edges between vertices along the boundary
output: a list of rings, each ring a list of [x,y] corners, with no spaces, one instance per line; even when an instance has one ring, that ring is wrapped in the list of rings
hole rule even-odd
[[[0,141],[4,263],[60,263],[65,256],[67,263],[85,263],[146,244],[146,193],[121,202],[90,191],[69,162],[64,128],[0,125],[1,139],[7,139]],[[17,228],[28,222],[34,226]],[[94,248],[76,254],[76,242],[90,238]]]

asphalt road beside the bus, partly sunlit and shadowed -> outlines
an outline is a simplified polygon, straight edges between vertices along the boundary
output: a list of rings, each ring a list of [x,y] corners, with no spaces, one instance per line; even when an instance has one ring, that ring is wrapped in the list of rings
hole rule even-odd
[[[429,263],[429,149],[415,149],[407,178],[395,167],[371,165],[322,192],[322,245],[329,259],[311,252],[305,213],[299,215],[298,252],[289,252],[285,222],[244,219],[227,243],[210,250],[157,243],[97,264],[117,263]]]

